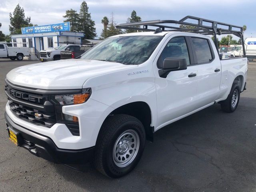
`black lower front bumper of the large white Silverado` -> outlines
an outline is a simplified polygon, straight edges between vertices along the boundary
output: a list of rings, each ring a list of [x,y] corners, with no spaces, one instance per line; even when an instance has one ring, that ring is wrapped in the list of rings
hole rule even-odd
[[[22,138],[20,146],[30,153],[48,161],[61,164],[84,164],[94,156],[94,146],[79,150],[66,150],[58,148],[47,136],[38,134],[14,123],[8,114],[4,114],[9,128],[18,132]]]

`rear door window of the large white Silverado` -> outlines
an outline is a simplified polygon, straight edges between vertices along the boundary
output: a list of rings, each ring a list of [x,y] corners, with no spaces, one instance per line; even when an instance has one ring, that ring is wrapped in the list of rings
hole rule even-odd
[[[207,63],[212,60],[212,52],[207,39],[202,38],[191,38],[192,44],[194,46],[194,51],[196,52],[197,63]]]

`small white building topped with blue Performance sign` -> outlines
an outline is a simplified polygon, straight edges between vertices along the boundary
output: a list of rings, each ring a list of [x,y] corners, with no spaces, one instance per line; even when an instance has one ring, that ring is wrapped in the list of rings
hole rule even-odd
[[[62,44],[81,44],[84,33],[70,32],[70,23],[22,28],[22,34],[12,35],[14,47],[30,47],[34,51],[54,49]]]

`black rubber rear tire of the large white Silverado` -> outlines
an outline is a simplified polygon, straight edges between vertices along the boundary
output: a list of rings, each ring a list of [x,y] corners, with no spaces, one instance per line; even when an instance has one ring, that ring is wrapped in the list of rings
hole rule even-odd
[[[232,85],[232,88],[230,90],[228,98],[226,98],[226,100],[220,102],[221,109],[224,112],[232,113],[236,110],[238,103],[239,103],[239,99],[240,99],[240,91],[241,91],[241,88],[238,84]],[[234,100],[233,100],[233,95],[235,94],[235,92],[236,92],[236,97],[237,97],[236,102],[234,102]],[[236,97],[234,97],[234,98],[236,98]]]

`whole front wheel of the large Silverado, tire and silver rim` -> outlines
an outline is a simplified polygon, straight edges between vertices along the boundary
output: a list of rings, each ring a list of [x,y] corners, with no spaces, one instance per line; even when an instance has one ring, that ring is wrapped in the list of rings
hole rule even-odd
[[[144,126],[137,118],[125,114],[108,117],[96,142],[96,169],[111,178],[128,174],[138,164],[145,140]]]

